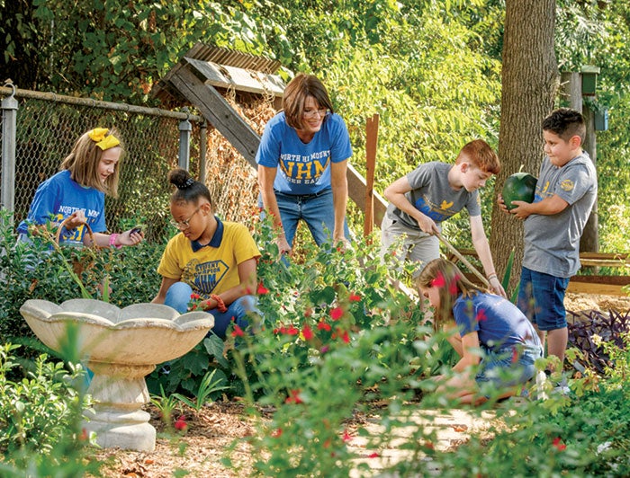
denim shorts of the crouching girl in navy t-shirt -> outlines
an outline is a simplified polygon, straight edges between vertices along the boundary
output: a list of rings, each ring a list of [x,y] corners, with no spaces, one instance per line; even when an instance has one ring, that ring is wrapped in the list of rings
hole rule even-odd
[[[500,350],[482,347],[483,358],[475,376],[478,385],[490,382],[497,388],[525,384],[536,375],[536,359],[543,357],[542,347],[514,346]]]

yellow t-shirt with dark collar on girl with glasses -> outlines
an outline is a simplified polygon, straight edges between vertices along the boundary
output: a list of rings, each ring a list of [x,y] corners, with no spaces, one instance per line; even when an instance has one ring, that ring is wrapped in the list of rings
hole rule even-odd
[[[175,235],[166,244],[157,273],[185,282],[204,299],[238,286],[238,264],[257,259],[260,251],[246,226],[223,223],[218,217],[217,223],[211,242],[196,251],[198,243],[182,233]]]

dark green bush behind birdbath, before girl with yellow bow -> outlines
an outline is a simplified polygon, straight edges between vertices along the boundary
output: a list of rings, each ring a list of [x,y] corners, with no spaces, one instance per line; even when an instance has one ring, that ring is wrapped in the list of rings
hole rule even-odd
[[[34,237],[32,243],[17,243],[11,215],[0,210],[0,338],[23,341],[32,332],[20,314],[31,298],[59,304],[81,297],[76,273],[94,298],[101,295],[105,277],[110,278],[110,302],[118,306],[149,302],[157,293],[161,277],[157,263],[162,243],[142,242],[122,249],[62,247],[51,251],[50,234]],[[52,236],[54,237],[54,236]],[[68,265],[72,267],[68,269]]]

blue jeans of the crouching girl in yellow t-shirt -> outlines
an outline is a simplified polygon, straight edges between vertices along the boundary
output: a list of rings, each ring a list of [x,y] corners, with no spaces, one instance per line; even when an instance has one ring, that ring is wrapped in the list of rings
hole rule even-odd
[[[173,307],[180,314],[184,314],[188,310],[188,303],[190,302],[190,295],[193,294],[193,288],[191,288],[185,282],[175,282],[166,291],[166,299],[164,305]],[[247,312],[254,312],[260,314],[257,310],[257,297],[256,296],[243,296],[238,297],[234,302],[228,306],[226,312],[219,312],[214,309],[208,311],[214,317],[214,327],[211,332],[216,333],[221,339],[225,340],[225,332],[228,330],[229,323],[234,321],[238,326],[245,330],[247,325]]]

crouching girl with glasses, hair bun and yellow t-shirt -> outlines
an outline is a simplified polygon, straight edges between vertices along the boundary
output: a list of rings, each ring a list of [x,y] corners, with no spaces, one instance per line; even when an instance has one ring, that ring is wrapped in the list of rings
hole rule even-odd
[[[162,285],[153,301],[187,310],[207,310],[212,332],[225,339],[229,323],[247,327],[247,313],[257,313],[257,259],[260,252],[246,226],[214,215],[210,191],[184,169],[168,174],[171,224],[179,229],[166,244],[157,272]]]

